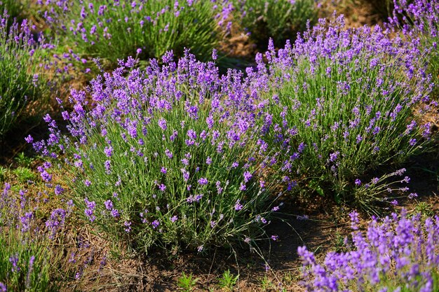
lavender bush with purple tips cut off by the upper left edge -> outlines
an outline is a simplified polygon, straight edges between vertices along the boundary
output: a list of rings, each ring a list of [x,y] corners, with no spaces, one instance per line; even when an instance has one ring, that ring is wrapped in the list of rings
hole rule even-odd
[[[48,81],[44,70],[48,66],[47,50],[41,36],[34,41],[32,25],[23,20],[19,25],[6,14],[0,17],[0,137],[22,118],[29,104],[38,102],[32,111],[45,110]]]

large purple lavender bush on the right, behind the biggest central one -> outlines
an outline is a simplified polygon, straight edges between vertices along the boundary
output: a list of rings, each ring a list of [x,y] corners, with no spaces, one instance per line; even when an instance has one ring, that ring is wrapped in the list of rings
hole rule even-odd
[[[379,27],[344,29],[342,16],[329,25],[322,20],[277,55],[271,44],[269,70],[259,55],[258,71],[250,72],[266,104],[259,144],[277,149],[267,165],[289,189],[363,206],[378,200],[353,188],[429,139],[430,124],[419,117],[437,104],[429,102],[419,55],[416,43],[389,39]]]

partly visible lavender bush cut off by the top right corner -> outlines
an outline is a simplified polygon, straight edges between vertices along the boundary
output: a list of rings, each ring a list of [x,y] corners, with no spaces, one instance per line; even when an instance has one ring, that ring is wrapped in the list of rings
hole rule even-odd
[[[418,39],[421,42],[420,49],[428,58],[428,73],[433,76],[435,88],[439,84],[439,1],[393,0],[395,9],[393,18],[389,22],[394,27],[401,27],[403,34],[410,39]],[[435,94],[438,94],[435,90]]]

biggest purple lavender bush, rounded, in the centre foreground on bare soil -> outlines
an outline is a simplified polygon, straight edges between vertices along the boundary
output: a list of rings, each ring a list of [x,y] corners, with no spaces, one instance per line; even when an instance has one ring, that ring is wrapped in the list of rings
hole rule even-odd
[[[70,135],[46,116],[50,137],[34,148],[56,157],[50,148],[58,146],[62,171],[74,176],[76,207],[136,249],[250,243],[267,223],[271,199],[268,183],[257,179],[252,119],[238,111],[241,74],[220,79],[215,63],[189,53],[175,63],[170,52],[163,67],[151,60],[124,77],[132,62],[91,82],[93,109],[86,92],[72,91],[74,111],[62,112]],[[52,164],[39,168],[46,181]]]

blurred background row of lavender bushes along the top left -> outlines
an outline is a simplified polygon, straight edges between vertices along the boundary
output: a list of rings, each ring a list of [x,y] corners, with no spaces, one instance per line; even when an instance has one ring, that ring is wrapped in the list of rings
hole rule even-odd
[[[184,48],[190,48],[199,60],[208,60],[213,48],[227,43],[233,26],[264,43],[269,36],[285,35],[276,37],[281,43],[304,29],[307,19],[316,18],[313,0],[3,0],[0,12],[0,137],[21,118],[35,116],[29,110],[32,106],[45,111],[48,97],[58,94],[65,78],[95,71],[94,57],[107,69],[114,69],[118,60],[129,55],[147,62],[173,50],[182,57]],[[18,22],[29,18],[36,23],[25,19],[18,24],[13,20],[16,17]],[[226,67],[231,64],[228,53],[220,53]],[[8,76],[18,76],[18,80]]]

